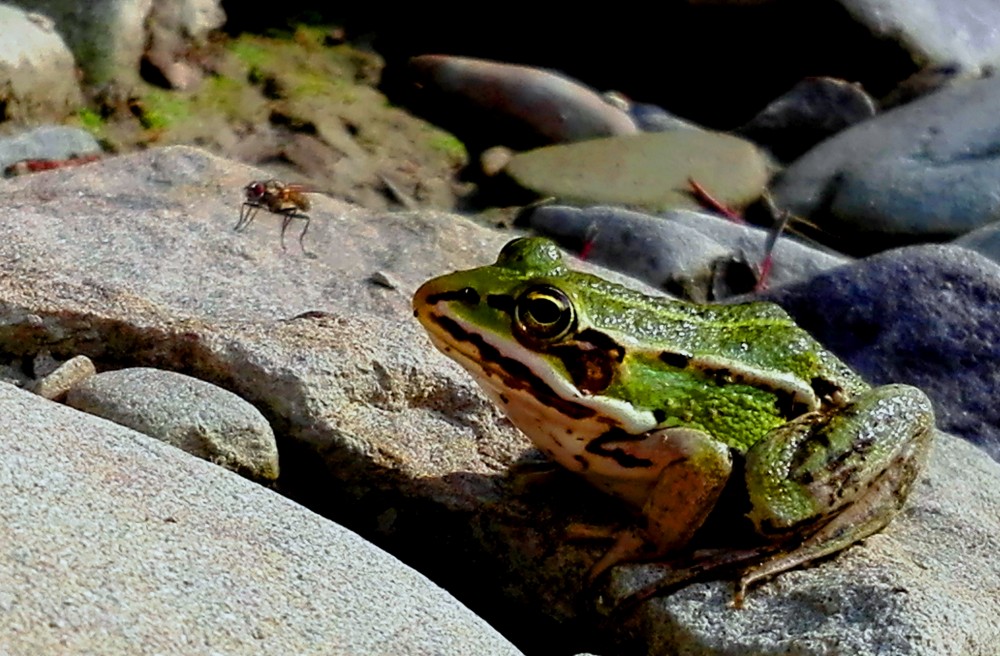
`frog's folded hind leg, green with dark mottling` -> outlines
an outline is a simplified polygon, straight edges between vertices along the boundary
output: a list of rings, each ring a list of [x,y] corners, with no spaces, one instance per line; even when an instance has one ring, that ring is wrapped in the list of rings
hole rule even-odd
[[[934,412],[915,387],[886,385],[842,408],[780,426],[747,452],[746,482],[758,533],[794,549],[744,572],[746,587],[835,553],[899,512],[927,458]]]

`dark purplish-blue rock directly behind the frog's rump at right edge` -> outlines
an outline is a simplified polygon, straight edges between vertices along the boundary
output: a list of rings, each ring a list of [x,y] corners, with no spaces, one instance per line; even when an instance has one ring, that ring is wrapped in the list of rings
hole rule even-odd
[[[965,248],[887,251],[765,294],[869,382],[907,383],[938,427],[1000,461],[1000,266]]]

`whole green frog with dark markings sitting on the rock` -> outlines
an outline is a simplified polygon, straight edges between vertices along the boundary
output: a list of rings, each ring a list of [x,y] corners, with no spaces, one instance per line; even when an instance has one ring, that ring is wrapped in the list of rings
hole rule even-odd
[[[927,396],[869,385],[777,304],[646,294],[571,268],[547,238],[428,280],[413,312],[547,458],[630,507],[590,581],[673,560],[682,584],[736,563],[742,605],[885,527],[928,457]],[[727,485],[759,546],[685,560]]]

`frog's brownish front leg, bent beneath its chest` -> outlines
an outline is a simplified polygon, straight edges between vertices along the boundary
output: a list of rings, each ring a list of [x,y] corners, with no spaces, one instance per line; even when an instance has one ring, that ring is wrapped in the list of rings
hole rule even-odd
[[[650,462],[659,471],[638,477],[632,490],[622,480],[616,483],[619,496],[641,507],[642,519],[616,534],[614,545],[591,568],[591,580],[617,563],[651,560],[687,545],[715,507],[733,467],[727,446],[693,429],[666,428],[602,447],[633,462]]]

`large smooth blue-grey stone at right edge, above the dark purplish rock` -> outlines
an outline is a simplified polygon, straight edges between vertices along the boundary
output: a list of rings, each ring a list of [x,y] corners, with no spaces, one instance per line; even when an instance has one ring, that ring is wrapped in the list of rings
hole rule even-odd
[[[774,187],[779,207],[854,240],[957,236],[1000,219],[1000,78],[965,81],[813,148]]]

